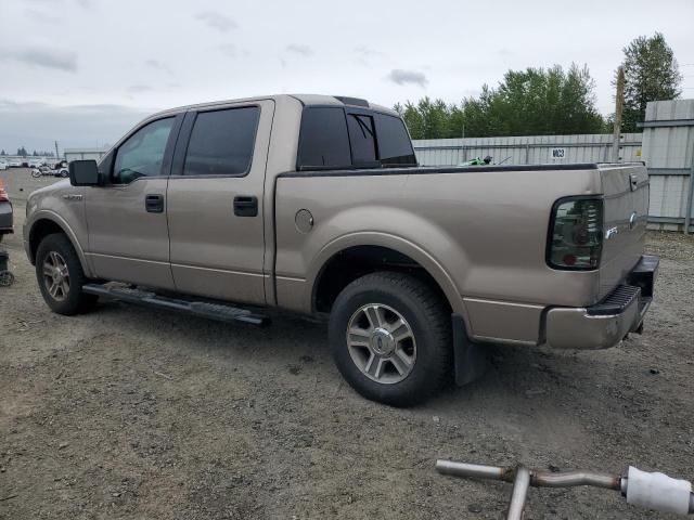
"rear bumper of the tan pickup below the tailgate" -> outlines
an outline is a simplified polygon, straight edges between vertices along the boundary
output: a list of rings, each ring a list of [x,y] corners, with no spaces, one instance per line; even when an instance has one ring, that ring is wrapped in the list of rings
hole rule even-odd
[[[547,313],[547,342],[555,349],[607,349],[629,333],[641,333],[653,298],[658,257],[644,255],[602,302],[584,308],[554,308]]]

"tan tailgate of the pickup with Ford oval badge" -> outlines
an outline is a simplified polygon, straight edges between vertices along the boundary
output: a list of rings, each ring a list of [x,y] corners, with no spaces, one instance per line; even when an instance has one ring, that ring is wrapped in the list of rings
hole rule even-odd
[[[601,165],[605,197],[600,298],[604,298],[643,255],[648,216],[648,173],[645,166]]]

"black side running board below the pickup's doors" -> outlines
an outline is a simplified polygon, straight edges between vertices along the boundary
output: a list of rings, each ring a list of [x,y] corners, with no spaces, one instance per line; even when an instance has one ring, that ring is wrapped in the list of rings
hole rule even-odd
[[[97,295],[140,306],[184,312],[219,322],[244,322],[260,326],[270,324],[270,317],[265,314],[226,303],[171,298],[149,290],[133,289],[126,286],[108,286],[108,284],[86,284],[82,286],[82,290],[89,295]]]

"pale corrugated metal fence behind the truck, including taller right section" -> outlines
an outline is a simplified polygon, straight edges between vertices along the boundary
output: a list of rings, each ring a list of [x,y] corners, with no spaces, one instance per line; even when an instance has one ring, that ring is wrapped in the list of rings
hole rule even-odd
[[[648,103],[643,125],[643,133],[621,135],[619,160],[646,161],[651,174],[651,226],[683,229],[690,220],[685,219],[687,207],[694,219],[690,182],[694,171],[694,100]],[[413,141],[413,145],[422,166],[455,166],[486,156],[492,157],[493,164],[503,165],[611,162],[613,136],[433,139]]]

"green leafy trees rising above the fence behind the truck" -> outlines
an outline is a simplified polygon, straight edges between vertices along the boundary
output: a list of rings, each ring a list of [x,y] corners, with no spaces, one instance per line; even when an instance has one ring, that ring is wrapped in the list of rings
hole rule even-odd
[[[622,132],[640,131],[646,103],[680,95],[682,75],[661,34],[634,39],[624,49]],[[497,88],[460,104],[424,98],[397,104],[412,139],[561,135],[612,132],[612,117],[595,107],[595,82],[587,66],[509,70]]]

